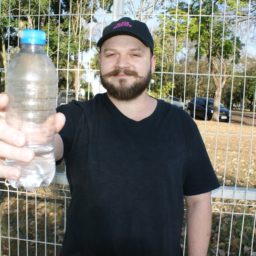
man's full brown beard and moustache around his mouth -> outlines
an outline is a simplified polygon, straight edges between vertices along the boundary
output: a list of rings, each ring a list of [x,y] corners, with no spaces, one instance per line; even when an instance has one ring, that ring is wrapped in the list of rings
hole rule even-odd
[[[126,79],[120,78],[117,86],[108,81],[109,77],[117,76],[120,73],[133,76],[136,78],[136,81],[133,84],[128,85]],[[136,71],[128,69],[115,69],[105,75],[100,74],[100,80],[110,96],[118,100],[128,101],[137,98],[148,87],[151,80],[151,70],[149,70],[148,73],[142,77],[139,76]]]

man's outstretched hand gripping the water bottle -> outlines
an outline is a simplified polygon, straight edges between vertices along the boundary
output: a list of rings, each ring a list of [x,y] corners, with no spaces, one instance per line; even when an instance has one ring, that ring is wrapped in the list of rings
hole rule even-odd
[[[34,152],[24,147],[27,141],[26,135],[7,125],[5,112],[8,101],[7,94],[0,94],[0,178],[18,179],[20,170],[12,166],[5,166],[4,160],[30,162],[34,158]],[[58,133],[64,126],[65,117],[61,113],[56,113],[51,118],[54,118],[54,133]]]

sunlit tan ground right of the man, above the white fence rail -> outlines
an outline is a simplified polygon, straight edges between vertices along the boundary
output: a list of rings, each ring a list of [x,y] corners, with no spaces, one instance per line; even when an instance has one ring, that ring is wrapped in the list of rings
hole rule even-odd
[[[256,187],[256,127],[196,120],[221,185]]]

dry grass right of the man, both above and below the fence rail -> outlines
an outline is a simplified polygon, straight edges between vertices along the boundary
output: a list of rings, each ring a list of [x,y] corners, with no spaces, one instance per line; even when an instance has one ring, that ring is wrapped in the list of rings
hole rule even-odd
[[[256,187],[256,127],[198,121],[221,185]],[[256,202],[215,199],[210,256],[256,255]]]

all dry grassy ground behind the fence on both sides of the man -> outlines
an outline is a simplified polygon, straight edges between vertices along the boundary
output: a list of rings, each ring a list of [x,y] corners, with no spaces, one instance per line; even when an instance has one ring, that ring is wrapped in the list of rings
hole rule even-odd
[[[256,127],[198,120],[196,123],[220,183],[255,188]],[[0,190],[0,253],[18,255],[19,250],[20,255],[58,255],[64,234],[64,209],[70,195],[57,187],[39,190],[37,196],[21,192],[17,195],[4,187]],[[216,199],[213,210],[208,255],[254,255],[256,202]]]

